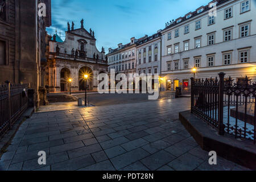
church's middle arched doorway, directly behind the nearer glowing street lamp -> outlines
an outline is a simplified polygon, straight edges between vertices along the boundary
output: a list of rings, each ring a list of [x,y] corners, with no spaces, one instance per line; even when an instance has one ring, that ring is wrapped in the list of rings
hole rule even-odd
[[[89,67],[82,67],[79,69],[79,90],[85,90],[85,79],[84,75],[88,75],[87,89],[92,90],[93,72]]]

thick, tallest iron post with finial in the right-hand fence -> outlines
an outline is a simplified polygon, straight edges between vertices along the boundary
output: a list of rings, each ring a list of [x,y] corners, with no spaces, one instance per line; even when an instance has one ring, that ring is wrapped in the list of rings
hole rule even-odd
[[[221,72],[218,74],[220,82],[218,85],[218,134],[224,135],[225,125],[223,124],[223,100],[224,100],[224,76],[226,74]]]

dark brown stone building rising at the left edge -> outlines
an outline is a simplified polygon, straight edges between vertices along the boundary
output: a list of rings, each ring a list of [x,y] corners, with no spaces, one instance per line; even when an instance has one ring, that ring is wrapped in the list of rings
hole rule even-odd
[[[39,16],[39,3],[46,16]],[[51,0],[0,0],[0,83],[26,83],[39,105],[41,62],[46,59],[46,27],[51,26]]]

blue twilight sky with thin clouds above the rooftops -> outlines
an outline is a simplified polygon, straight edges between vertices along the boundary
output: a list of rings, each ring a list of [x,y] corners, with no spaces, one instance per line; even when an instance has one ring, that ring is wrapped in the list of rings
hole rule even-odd
[[[84,27],[95,32],[96,46],[116,48],[119,43],[129,43],[130,38],[141,38],[155,34],[165,27],[165,23],[195,11],[210,0],[53,0],[52,26],[49,34],[61,31],[65,40],[67,22],[80,28],[84,18]]]

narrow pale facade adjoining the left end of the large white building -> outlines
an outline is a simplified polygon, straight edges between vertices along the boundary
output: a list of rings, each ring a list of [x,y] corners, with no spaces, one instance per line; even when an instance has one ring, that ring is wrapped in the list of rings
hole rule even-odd
[[[161,33],[158,32],[152,36],[137,43],[137,73],[139,75],[156,73],[160,75],[161,65]]]

